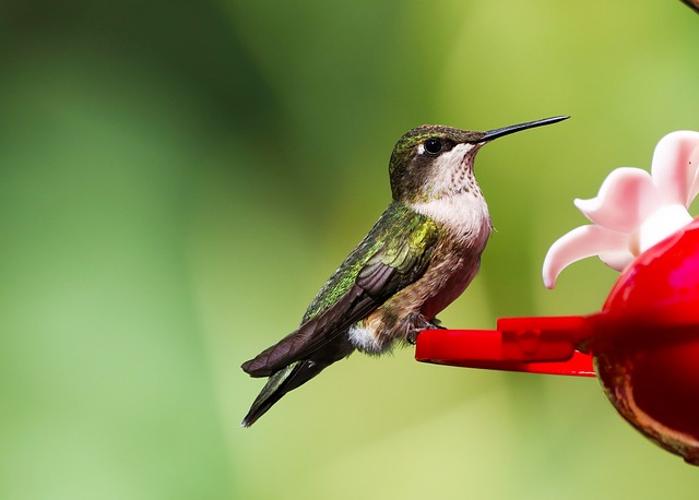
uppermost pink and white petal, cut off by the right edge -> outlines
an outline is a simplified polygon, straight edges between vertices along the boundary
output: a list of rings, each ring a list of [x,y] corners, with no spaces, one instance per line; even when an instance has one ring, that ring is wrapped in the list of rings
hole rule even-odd
[[[689,206],[699,191],[699,132],[682,130],[660,140],[653,153],[651,174],[666,204]]]

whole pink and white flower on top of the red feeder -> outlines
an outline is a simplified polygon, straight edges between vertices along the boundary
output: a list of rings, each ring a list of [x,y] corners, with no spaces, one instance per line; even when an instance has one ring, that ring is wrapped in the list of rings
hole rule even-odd
[[[665,135],[655,146],[651,174],[617,168],[595,198],[574,201],[593,224],[577,227],[552,245],[544,260],[544,284],[553,288],[566,266],[592,255],[623,271],[692,221],[688,207],[698,192],[699,132]]]

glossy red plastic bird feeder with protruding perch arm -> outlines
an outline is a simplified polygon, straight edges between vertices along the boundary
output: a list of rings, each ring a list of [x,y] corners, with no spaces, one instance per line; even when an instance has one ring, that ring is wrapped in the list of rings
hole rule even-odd
[[[594,314],[429,330],[415,358],[594,377],[640,432],[699,465],[699,219],[640,254]]]

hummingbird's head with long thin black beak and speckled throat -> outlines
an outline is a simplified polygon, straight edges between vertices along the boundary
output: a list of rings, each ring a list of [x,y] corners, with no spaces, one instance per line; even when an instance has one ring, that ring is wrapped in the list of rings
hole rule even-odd
[[[479,197],[473,163],[484,144],[502,135],[567,118],[546,118],[487,132],[443,126],[417,127],[406,132],[393,148],[389,164],[393,199],[415,203],[464,192]]]

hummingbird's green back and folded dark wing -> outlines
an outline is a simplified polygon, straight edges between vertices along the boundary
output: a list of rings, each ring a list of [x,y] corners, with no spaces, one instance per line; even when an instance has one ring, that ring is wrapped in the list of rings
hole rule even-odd
[[[429,217],[402,204],[389,205],[319,291],[298,330],[242,365],[242,369],[253,377],[270,377],[327,348],[425,273],[438,233]]]

